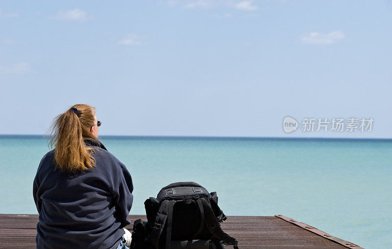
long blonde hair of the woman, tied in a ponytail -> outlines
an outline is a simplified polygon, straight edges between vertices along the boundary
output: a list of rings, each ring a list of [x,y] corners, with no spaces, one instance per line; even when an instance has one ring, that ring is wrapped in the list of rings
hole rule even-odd
[[[72,108],[77,109],[77,115]],[[56,167],[64,172],[87,170],[95,166],[95,159],[86,147],[84,138],[97,139],[90,129],[94,123],[95,107],[87,104],[75,104],[58,115],[51,125],[49,147],[54,148]]]

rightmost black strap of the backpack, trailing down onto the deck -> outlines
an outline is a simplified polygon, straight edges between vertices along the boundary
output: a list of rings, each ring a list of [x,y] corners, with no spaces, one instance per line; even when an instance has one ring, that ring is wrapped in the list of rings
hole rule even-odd
[[[204,207],[205,223],[212,236],[222,240],[223,244],[232,245],[234,249],[238,249],[238,241],[227,233],[223,232],[221,225],[218,223],[217,218],[214,215],[214,211],[211,209],[211,205],[208,203],[208,201],[204,198],[201,198],[201,202],[203,203]]]

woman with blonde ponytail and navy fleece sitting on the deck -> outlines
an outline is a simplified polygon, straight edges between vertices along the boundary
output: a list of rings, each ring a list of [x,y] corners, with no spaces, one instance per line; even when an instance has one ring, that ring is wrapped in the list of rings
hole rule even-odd
[[[132,178],[98,140],[95,108],[75,104],[57,116],[33,184],[37,248],[125,248]],[[125,233],[125,234],[124,234]]]

